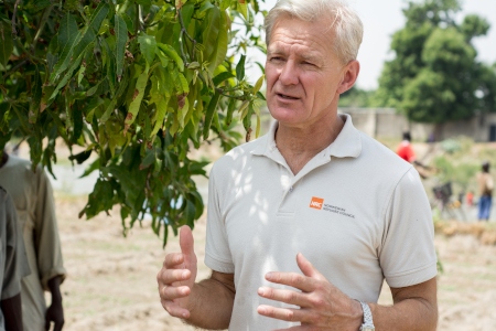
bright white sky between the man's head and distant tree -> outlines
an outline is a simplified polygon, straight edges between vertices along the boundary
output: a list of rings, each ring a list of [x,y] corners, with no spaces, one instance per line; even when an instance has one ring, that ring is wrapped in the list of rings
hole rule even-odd
[[[270,9],[276,0],[260,2],[260,8]],[[405,25],[402,9],[407,7],[407,0],[348,0],[364,24],[364,40],[358,52],[360,74],[356,83],[363,89],[375,89],[380,76],[382,64],[392,57],[389,52],[391,35]],[[476,13],[485,18],[490,30],[485,36],[474,40],[477,50],[477,60],[492,64],[496,62],[496,0],[464,0],[462,12],[459,13],[459,22],[468,13]],[[259,58],[257,56],[257,58]],[[260,61],[260,60],[259,60]],[[258,77],[260,74],[257,74]]]

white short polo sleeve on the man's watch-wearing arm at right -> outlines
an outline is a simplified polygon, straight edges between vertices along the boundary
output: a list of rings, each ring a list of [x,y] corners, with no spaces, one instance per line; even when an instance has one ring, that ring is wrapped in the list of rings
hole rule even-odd
[[[418,172],[401,178],[386,210],[387,233],[379,260],[390,287],[427,281],[438,274],[434,225]]]

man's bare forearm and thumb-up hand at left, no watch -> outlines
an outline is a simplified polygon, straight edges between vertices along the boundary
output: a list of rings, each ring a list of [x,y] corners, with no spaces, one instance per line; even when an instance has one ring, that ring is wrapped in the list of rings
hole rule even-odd
[[[235,298],[233,274],[213,271],[211,278],[195,282],[197,266],[191,228],[180,229],[181,253],[165,256],[157,275],[162,307],[186,323],[220,330],[229,325]]]

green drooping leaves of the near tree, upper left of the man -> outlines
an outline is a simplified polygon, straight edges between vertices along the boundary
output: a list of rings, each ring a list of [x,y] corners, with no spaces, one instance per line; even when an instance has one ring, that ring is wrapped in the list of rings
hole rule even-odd
[[[238,122],[249,140],[252,115],[259,128],[263,76],[247,83],[240,55],[263,50],[257,14],[257,0],[0,0],[0,151],[21,137],[53,174],[63,139],[99,174],[79,216],[119,205],[125,233],[151,217],[165,245],[203,213],[192,177],[208,161],[190,151],[233,148]]]

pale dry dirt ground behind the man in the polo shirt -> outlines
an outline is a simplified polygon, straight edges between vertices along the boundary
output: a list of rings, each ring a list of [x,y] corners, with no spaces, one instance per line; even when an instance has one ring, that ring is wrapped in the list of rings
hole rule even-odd
[[[177,252],[175,237],[165,250],[150,226],[134,226],[122,236],[119,213],[90,221],[77,218],[82,196],[56,194],[58,226],[68,277],[62,286],[65,330],[190,331],[168,317],[159,302],[155,276],[168,252]],[[203,265],[205,221],[195,229],[198,277]],[[439,330],[496,328],[496,246],[471,234],[436,235],[444,273],[439,276]],[[380,302],[390,303],[387,287]]]

